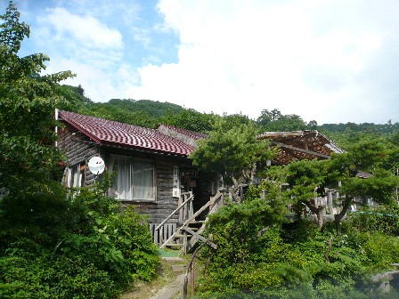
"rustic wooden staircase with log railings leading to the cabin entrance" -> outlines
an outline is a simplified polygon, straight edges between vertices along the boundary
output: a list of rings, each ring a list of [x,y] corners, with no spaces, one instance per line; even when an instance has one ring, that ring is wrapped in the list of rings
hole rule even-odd
[[[179,212],[179,222],[181,224],[167,240],[159,242],[160,248],[180,247],[182,253],[185,255],[198,241],[206,241],[206,238],[202,237],[202,233],[206,228],[208,216],[205,221],[197,221],[196,218],[207,209],[208,214],[216,212],[219,206],[223,206],[224,204],[224,194],[218,190],[216,195],[210,198],[209,201],[204,206],[201,206],[195,213],[193,213],[192,208],[193,198],[194,196],[191,192],[183,193],[179,199],[179,206],[155,228],[155,231],[159,230],[159,235],[163,235],[164,226],[167,225],[167,222],[174,214]],[[216,248],[216,245],[212,242],[210,242],[209,245]]]

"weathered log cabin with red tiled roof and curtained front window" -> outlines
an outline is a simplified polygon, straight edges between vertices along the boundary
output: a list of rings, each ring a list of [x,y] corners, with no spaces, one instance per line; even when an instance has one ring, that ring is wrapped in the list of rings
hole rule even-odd
[[[56,113],[62,124],[57,146],[68,158],[64,185],[92,185],[96,175],[87,163],[101,157],[106,168],[116,172],[109,195],[148,216],[156,243],[176,234],[216,194],[217,181],[199,172],[188,158],[206,134],[170,125],[143,128],[63,110]]]

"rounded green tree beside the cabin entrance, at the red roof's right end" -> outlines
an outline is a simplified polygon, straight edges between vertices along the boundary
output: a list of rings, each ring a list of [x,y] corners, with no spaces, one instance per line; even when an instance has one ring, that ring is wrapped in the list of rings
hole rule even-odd
[[[235,124],[235,118],[232,118]],[[227,129],[226,129],[227,128]],[[221,174],[227,188],[232,187],[232,197],[240,201],[237,190],[243,183],[252,184],[256,171],[267,165],[273,158],[269,142],[257,140],[256,125],[229,125],[227,119],[220,119],[216,129],[208,138],[200,140],[197,150],[190,158],[199,168],[214,174]]]

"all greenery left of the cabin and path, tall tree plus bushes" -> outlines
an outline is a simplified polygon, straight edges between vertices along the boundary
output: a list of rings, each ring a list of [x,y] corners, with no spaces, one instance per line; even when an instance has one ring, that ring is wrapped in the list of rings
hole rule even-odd
[[[107,176],[93,190],[62,188],[53,113],[82,105],[83,90],[72,101],[59,85],[70,72],[41,76],[44,54],[18,56],[29,36],[19,17],[12,3],[0,16],[0,297],[116,297],[151,279],[157,248],[146,219],[103,196]]]

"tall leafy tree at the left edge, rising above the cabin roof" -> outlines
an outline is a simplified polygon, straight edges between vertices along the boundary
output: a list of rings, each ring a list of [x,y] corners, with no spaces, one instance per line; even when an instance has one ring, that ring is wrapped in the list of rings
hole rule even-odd
[[[18,55],[30,32],[20,12],[10,3],[0,18],[0,185],[11,191],[47,178],[61,161],[53,115],[62,101],[59,83],[73,74],[40,75],[45,54]]]

